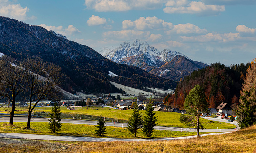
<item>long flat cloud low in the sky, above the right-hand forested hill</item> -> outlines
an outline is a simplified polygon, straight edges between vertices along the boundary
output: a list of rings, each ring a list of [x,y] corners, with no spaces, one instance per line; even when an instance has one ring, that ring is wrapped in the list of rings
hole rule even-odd
[[[208,33],[206,35],[201,36],[191,36],[181,37],[183,41],[189,41],[189,42],[211,42],[211,41],[220,41],[220,42],[228,42],[228,41],[235,41],[241,37],[239,37],[239,33],[224,33],[224,34],[213,34]]]

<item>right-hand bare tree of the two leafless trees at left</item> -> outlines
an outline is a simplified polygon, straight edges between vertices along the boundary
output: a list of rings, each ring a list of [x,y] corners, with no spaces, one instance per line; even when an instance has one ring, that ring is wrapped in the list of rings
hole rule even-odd
[[[21,63],[27,71],[24,82],[26,84],[26,100],[29,102],[27,127],[30,128],[31,112],[38,102],[43,100],[60,101],[61,92],[57,86],[60,78],[60,68],[46,64],[41,59],[28,59]],[[33,103],[33,105],[32,105]]]

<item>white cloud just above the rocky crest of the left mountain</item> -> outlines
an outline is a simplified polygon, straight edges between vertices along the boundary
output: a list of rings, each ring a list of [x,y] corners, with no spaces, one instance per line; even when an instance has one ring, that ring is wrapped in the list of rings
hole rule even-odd
[[[45,24],[40,24],[38,26],[41,26],[45,29],[47,29],[48,31],[49,30],[53,30],[55,31],[56,33],[61,33],[62,35],[64,36],[70,36],[70,35],[73,35],[75,33],[80,33],[81,31],[79,31],[75,26],[73,25],[69,25],[67,28],[63,28],[63,26],[47,26]]]

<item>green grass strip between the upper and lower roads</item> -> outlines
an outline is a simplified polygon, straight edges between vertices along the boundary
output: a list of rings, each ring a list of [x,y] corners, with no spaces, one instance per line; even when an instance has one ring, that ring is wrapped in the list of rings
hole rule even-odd
[[[0,132],[2,133],[26,133],[26,134],[41,134],[41,135],[62,135],[62,136],[82,136],[82,137],[98,137],[95,135],[96,127],[94,125],[81,125],[81,124],[62,124],[61,132],[51,133],[49,131],[48,123],[41,122],[31,122],[31,128],[24,129],[26,127],[26,122],[14,122],[15,126],[2,125],[0,123]],[[4,124],[7,124],[5,122]],[[133,138],[127,128],[120,127],[110,127],[107,126],[107,133],[104,137],[108,138]],[[191,136],[196,135],[196,132],[180,132],[180,131],[164,131],[164,130],[154,130],[152,137],[153,138],[164,138],[164,137],[181,137],[181,136]],[[206,134],[206,133],[200,133]],[[137,136],[139,138],[145,138],[142,133],[142,130],[138,131]]]

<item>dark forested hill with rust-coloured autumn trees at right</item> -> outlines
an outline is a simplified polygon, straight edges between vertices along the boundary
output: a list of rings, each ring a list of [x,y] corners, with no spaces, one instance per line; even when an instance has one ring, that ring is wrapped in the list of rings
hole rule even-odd
[[[216,108],[221,102],[238,104],[240,90],[246,76],[249,63],[226,67],[220,63],[193,71],[177,85],[174,94],[164,98],[164,102],[172,107],[183,108],[189,91],[199,84],[205,91],[210,108]]]

